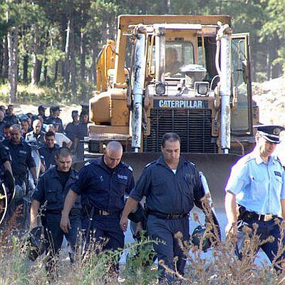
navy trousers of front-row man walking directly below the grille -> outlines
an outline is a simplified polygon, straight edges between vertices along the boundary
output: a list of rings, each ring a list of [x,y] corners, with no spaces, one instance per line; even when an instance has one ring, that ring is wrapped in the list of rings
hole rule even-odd
[[[164,261],[165,265],[172,270],[176,270],[179,274],[184,274],[186,257],[182,252],[175,234],[177,232],[182,233],[182,242],[189,241],[189,218],[184,217],[182,219],[160,219],[158,217],[149,214],[147,217],[147,233],[151,239],[159,239],[162,242],[154,245],[155,252],[157,252],[158,261]],[[174,257],[177,257],[177,263],[174,264]],[[158,269],[162,273],[162,278],[168,282],[175,281],[175,277],[170,274],[166,274],[165,269],[162,266],[158,266]]]

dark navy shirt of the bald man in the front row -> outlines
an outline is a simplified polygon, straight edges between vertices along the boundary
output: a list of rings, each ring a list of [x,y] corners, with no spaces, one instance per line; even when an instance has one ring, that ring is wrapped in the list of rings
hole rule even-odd
[[[103,157],[86,162],[79,172],[76,184],[71,190],[81,195],[82,201],[89,199],[90,204],[106,212],[121,212],[124,208],[124,195],[134,186],[133,170],[120,162],[110,170]]]

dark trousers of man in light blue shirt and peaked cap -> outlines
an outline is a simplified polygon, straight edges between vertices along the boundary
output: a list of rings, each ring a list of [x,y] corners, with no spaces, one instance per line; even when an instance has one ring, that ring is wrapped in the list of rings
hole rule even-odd
[[[282,221],[281,218],[278,218],[280,222]],[[257,224],[257,235],[259,236],[260,241],[264,241],[268,237],[274,237],[274,242],[266,242],[265,244],[262,244],[260,247],[257,248],[257,252],[261,248],[266,256],[269,258],[270,261],[273,261],[274,257],[276,256],[276,253],[278,251],[278,243],[279,239],[281,237],[280,227],[278,224],[276,224],[275,219],[271,219],[271,221],[264,222],[259,221],[256,218],[252,219],[246,219],[246,220],[239,220],[237,227],[237,247],[236,247],[236,254],[239,259],[242,259],[242,249],[244,247],[244,239],[246,237],[246,234],[242,232],[243,227],[249,227],[253,229],[253,224]],[[285,243],[285,237],[282,241],[282,244]],[[256,252],[256,253],[257,253]],[[285,252],[281,254],[281,257],[277,259],[277,261],[285,258]],[[275,268],[277,271],[280,269],[278,266]]]

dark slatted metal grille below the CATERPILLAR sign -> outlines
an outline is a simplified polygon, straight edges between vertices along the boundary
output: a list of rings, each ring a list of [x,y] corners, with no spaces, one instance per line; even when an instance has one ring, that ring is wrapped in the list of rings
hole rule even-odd
[[[162,135],[180,135],[181,152],[217,153],[212,141],[211,110],[161,109],[150,110],[150,135],[144,138],[145,152],[160,152]]]

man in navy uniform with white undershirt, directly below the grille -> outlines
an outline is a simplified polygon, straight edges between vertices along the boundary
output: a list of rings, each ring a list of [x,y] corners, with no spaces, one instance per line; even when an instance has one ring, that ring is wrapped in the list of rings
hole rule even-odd
[[[189,241],[189,212],[194,203],[199,204],[204,190],[199,173],[191,162],[180,157],[180,138],[176,133],[165,133],[162,137],[162,156],[145,167],[135,188],[130,192],[120,219],[121,228],[126,231],[128,215],[138,207],[142,197],[146,197],[147,232],[152,239],[165,243],[155,244],[159,261],[184,274],[185,256],[177,244],[175,234],[182,233],[183,241]],[[162,266],[163,281],[172,282],[174,278],[166,274]],[[161,280],[162,281],[162,280]]]

